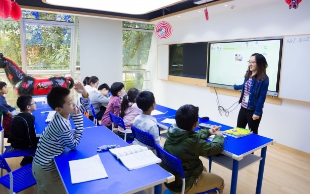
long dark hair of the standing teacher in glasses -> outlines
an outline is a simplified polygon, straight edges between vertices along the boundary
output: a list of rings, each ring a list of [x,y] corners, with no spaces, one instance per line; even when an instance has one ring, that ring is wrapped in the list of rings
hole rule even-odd
[[[257,65],[257,73],[254,75],[256,79],[259,80],[264,80],[268,78],[266,74],[266,68],[268,67],[268,63],[266,61],[266,58],[264,55],[259,54],[259,53],[254,53],[252,56],[255,56],[256,59],[256,65]],[[252,76],[252,71],[250,70],[250,66],[248,66],[248,71],[245,74],[245,78],[250,78]]]

